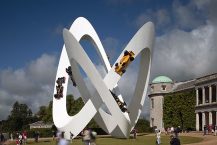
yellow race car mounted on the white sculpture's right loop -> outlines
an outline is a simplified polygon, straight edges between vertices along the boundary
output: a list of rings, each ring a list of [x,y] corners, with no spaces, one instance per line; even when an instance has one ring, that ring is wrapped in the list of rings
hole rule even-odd
[[[122,76],[126,72],[127,66],[134,60],[134,56],[133,51],[126,50],[120,62],[115,64],[115,72]]]

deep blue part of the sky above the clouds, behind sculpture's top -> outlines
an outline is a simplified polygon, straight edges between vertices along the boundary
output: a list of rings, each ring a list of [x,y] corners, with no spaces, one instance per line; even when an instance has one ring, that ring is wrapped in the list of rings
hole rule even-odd
[[[116,38],[121,47],[141,25],[133,23],[138,15],[148,9],[168,9],[170,3],[169,0],[163,3],[157,0],[3,0],[0,47],[4,53],[1,53],[0,68],[22,67],[43,53],[59,55],[63,45],[62,29],[69,28],[79,16],[93,24],[102,40]]]

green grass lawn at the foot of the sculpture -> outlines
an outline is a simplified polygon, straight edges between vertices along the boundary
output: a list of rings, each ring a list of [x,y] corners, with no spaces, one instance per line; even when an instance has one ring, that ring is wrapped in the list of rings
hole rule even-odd
[[[97,138],[97,145],[156,145],[155,136],[138,136],[137,139],[115,139],[115,138]],[[203,139],[198,137],[181,136],[181,144],[201,142]],[[169,136],[161,137],[161,145],[169,145]],[[38,143],[29,141],[31,145],[56,145],[55,141],[51,140],[39,140]],[[28,145],[27,144],[27,145]],[[74,139],[70,145],[83,145],[81,139]]]

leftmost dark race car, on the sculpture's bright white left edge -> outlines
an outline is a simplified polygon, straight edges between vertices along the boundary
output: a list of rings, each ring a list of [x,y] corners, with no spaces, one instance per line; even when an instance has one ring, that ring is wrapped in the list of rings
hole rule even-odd
[[[57,86],[56,86],[57,93],[54,94],[54,98],[60,99],[60,98],[63,97],[63,89],[64,89],[64,87],[63,87],[62,84],[65,83],[65,79],[66,79],[65,77],[61,77],[61,78],[58,78],[56,80],[56,83],[57,83]]]

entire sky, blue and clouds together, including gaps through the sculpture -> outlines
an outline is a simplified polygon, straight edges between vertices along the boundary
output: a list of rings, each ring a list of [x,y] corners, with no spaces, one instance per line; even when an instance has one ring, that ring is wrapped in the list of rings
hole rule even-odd
[[[111,64],[137,30],[152,21],[156,34],[150,82],[159,75],[185,81],[216,73],[216,7],[215,0],[1,0],[0,120],[7,118],[15,101],[36,113],[52,100],[62,30],[80,16],[95,28]],[[96,52],[89,49],[93,46],[81,44],[104,74]],[[126,102],[137,69],[131,65],[120,81]],[[76,88],[68,90],[78,95]],[[146,118],[148,102],[146,98],[142,113]]]

